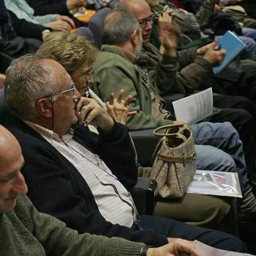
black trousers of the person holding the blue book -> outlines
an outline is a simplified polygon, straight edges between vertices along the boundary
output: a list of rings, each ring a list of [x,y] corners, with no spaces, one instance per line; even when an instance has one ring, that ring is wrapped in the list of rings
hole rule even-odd
[[[222,111],[210,118],[211,122],[229,121],[236,128],[243,143],[248,174],[255,172],[255,117],[252,101],[242,96],[218,95],[213,97],[213,105]]]

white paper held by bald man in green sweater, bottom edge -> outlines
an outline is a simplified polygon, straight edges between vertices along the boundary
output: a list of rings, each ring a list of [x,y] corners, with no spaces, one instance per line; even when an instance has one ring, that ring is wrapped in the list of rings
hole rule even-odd
[[[245,254],[242,252],[231,252],[229,250],[221,250],[221,249],[216,249],[214,247],[211,247],[207,244],[203,244],[202,242],[199,242],[195,240],[195,249],[198,250],[202,255],[207,255],[207,256],[245,256],[245,255],[251,255],[252,254]]]

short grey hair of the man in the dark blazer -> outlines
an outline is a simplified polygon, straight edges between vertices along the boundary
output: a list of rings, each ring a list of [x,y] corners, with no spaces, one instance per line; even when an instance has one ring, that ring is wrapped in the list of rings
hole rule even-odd
[[[6,70],[6,99],[22,119],[36,119],[36,101],[59,89],[51,70],[43,66],[45,59],[53,57],[26,54],[14,59]]]

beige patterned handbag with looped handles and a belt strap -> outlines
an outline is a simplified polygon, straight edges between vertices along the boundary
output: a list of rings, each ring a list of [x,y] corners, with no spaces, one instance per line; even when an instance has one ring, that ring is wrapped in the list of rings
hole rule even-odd
[[[161,139],[153,153],[150,178],[156,180],[159,196],[182,198],[195,174],[192,132],[187,124],[171,124],[156,128],[153,134]]]

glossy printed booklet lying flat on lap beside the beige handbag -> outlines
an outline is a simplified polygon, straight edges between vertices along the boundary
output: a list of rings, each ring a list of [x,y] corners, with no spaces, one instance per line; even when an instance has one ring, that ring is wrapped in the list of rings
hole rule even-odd
[[[237,173],[223,171],[197,170],[187,188],[187,193],[242,198]]]

